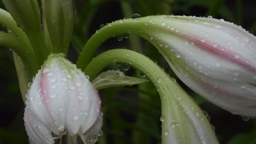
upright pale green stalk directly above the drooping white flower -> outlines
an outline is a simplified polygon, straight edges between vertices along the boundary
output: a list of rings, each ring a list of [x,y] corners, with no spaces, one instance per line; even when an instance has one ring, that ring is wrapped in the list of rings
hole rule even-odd
[[[48,30],[52,52],[67,54],[74,25],[74,5],[72,0],[42,1],[44,31]]]

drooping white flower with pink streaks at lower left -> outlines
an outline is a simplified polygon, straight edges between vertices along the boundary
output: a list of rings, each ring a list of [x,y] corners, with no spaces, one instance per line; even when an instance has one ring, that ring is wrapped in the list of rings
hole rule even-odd
[[[61,54],[53,54],[27,93],[25,127],[31,143],[53,143],[62,135],[95,143],[101,131],[101,100],[88,78]]]

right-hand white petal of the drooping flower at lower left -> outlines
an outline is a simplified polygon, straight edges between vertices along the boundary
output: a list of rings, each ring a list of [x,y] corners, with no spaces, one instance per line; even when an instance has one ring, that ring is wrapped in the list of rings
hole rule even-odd
[[[95,123],[100,107],[98,94],[87,77],[80,70],[73,71],[69,81],[69,105],[67,109],[67,129],[77,134],[79,129],[88,130]]]

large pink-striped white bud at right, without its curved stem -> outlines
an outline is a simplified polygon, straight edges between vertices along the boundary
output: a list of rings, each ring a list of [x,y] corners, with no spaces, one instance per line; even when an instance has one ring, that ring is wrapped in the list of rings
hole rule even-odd
[[[142,37],[158,47],[187,86],[225,110],[256,117],[254,35],[211,17],[149,16],[141,21],[147,21]]]

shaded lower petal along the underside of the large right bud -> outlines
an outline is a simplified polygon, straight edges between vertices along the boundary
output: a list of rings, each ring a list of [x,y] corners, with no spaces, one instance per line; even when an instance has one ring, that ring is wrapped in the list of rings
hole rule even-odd
[[[256,117],[255,86],[213,79],[188,67],[177,66],[173,70],[188,87],[211,103],[237,115]]]

